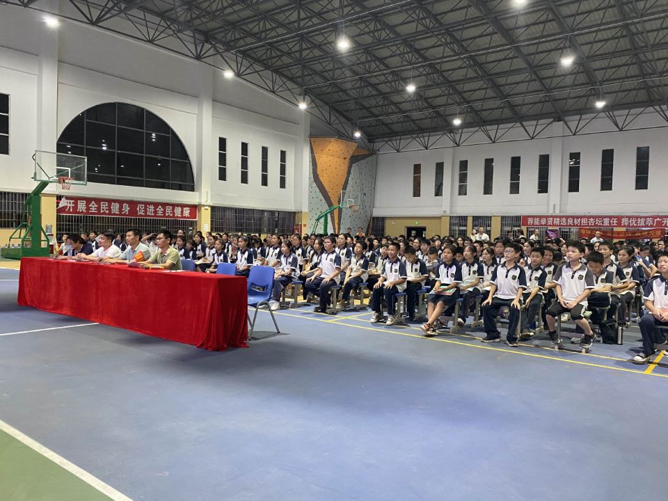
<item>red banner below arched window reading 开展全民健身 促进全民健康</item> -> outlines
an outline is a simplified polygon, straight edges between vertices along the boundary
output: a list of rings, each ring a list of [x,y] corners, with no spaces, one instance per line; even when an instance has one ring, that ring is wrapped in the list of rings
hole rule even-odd
[[[165,202],[81,198],[65,195],[58,200],[56,214],[194,220],[197,219],[197,206]]]

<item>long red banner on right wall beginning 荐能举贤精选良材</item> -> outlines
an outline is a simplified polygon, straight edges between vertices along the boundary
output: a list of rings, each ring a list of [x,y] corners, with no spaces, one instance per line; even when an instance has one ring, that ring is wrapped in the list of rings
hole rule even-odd
[[[521,225],[550,228],[668,228],[668,216],[522,216]]]

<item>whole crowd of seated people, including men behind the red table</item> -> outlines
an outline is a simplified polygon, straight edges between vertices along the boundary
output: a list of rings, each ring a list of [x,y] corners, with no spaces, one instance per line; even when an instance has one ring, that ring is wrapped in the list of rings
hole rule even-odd
[[[250,267],[274,267],[271,308],[280,306],[281,291],[295,280],[303,283],[303,297],[319,297],[315,311],[333,314],[344,308],[353,289],[366,283],[371,293],[372,322],[399,321],[397,293],[406,294],[408,321],[416,319],[417,296],[428,289],[424,335],[436,335],[439,319],[452,317],[459,301],[463,326],[476,301],[482,305],[485,337],[500,342],[497,318],[508,319],[506,342],[534,335],[538,315],[547,326],[552,346],[562,340],[557,319],[570,316],[589,350],[594,340],[591,324],[598,326],[603,342],[616,342],[617,326],[628,327],[635,305],[643,339],[642,353],[633,361],[647,363],[655,344],[665,344],[668,327],[668,254],[665,241],[644,244],[605,241],[601,232],[587,241],[542,239],[539,230],[530,238],[507,234],[490,239],[485,228],[470,237],[418,239],[399,236],[365,236],[362,228],[331,235],[207,233],[186,238],[182,230],[141,234],[127,230],[125,239],[111,231],[63,235],[57,249],[61,259],[125,263],[146,268],[182,269],[182,260],[194,260],[197,271],[214,273],[221,262],[236,264],[237,274],[248,276]],[[340,285],[337,308],[331,308],[330,291]],[[644,300],[644,301],[643,301]],[[591,324],[587,321],[591,310]],[[521,322],[520,322],[521,319]]]

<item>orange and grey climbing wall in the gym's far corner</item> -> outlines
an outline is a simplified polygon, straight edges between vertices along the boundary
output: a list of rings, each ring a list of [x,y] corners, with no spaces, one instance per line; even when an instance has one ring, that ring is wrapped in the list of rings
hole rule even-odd
[[[356,143],[337,138],[311,138],[311,163],[308,231],[319,214],[340,202],[341,191],[356,198],[359,212],[340,209],[328,217],[328,230],[367,229],[371,221],[376,186],[376,155],[358,148]],[[322,225],[319,225],[321,232]]]

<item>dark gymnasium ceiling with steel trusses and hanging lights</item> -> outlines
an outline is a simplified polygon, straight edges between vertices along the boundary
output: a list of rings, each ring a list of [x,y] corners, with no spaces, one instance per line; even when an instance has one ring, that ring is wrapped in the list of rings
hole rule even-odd
[[[61,15],[230,67],[295,104],[305,96],[310,113],[369,142],[452,132],[456,116],[459,128],[527,134],[536,120],[575,134],[584,115],[626,109],[668,120],[668,1],[517,3],[62,0]],[[343,35],[347,51],[337,49]],[[560,63],[567,54],[571,67]]]

